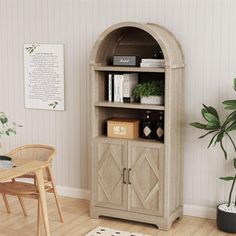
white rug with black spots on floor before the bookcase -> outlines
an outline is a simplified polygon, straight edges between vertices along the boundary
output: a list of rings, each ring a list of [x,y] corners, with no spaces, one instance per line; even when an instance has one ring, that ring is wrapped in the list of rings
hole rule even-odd
[[[150,236],[139,233],[120,231],[116,229],[110,229],[106,227],[97,227],[96,229],[90,231],[85,236]]]

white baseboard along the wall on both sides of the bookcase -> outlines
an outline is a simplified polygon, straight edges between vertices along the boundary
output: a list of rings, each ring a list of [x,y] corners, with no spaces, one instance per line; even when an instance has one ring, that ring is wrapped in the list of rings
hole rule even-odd
[[[70,188],[64,186],[57,186],[57,190],[59,195],[66,197],[74,197],[87,199],[90,198],[90,191],[87,189],[78,189],[78,188]],[[201,207],[195,205],[187,205],[183,206],[184,215],[188,216],[196,216],[207,219],[215,219],[216,218],[216,209],[209,207]]]

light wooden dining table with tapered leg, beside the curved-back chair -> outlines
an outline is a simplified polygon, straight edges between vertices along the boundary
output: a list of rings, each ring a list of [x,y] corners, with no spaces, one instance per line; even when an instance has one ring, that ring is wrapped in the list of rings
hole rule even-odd
[[[44,188],[43,180],[43,170],[49,167],[50,163],[45,161],[29,160],[24,158],[16,158],[12,160],[15,165],[14,168],[10,169],[0,169],[0,182],[11,180],[13,178],[25,175],[29,172],[35,173],[35,178],[37,181],[38,191],[39,191],[39,201],[42,208],[43,221],[45,225],[46,235],[50,236],[48,211],[46,194]]]

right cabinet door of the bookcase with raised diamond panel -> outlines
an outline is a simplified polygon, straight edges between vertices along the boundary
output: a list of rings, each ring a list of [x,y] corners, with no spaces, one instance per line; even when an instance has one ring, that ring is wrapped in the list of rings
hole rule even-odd
[[[129,211],[163,215],[162,144],[129,141]]]

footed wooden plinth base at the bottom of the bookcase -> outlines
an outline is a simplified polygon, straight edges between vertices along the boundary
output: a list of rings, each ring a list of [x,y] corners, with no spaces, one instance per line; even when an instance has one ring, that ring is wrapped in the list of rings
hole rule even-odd
[[[108,209],[103,207],[90,207],[90,217],[98,219],[99,216],[108,216],[124,220],[133,220],[148,224],[154,224],[160,230],[169,230],[172,223],[177,219],[182,219],[183,217],[183,207],[177,208],[172,214],[167,218],[158,217],[152,215],[139,214],[135,212],[120,211],[114,209]]]

